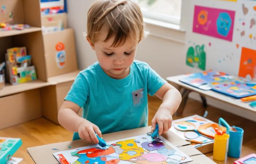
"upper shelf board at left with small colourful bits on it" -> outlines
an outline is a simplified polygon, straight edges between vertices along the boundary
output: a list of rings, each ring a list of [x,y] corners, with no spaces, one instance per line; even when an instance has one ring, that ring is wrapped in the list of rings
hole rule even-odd
[[[5,36],[26,34],[26,33],[35,32],[35,31],[41,31],[41,28],[40,27],[30,27],[30,28],[25,28],[23,30],[0,31],[0,38],[5,37]]]

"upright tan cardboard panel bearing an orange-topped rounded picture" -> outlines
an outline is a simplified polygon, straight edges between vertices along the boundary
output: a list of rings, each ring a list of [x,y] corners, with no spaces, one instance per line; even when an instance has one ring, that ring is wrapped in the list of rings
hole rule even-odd
[[[73,29],[44,34],[43,40],[47,78],[78,69]]]

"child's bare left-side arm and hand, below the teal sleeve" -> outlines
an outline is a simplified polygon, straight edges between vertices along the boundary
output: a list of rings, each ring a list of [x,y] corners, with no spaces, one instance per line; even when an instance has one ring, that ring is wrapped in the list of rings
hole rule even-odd
[[[79,117],[80,106],[71,101],[64,101],[58,114],[58,121],[65,129],[78,132],[79,137],[87,141],[98,143],[95,132],[101,137],[101,131],[98,126],[90,121]],[[95,131],[95,132],[94,132]]]

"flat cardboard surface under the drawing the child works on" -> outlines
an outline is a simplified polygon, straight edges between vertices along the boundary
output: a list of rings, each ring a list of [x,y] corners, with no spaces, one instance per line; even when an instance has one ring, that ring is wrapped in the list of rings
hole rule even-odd
[[[137,128],[137,129],[125,130],[121,132],[103,134],[102,137],[104,138],[105,141],[120,140],[122,138],[146,134],[147,132],[150,132],[150,128],[151,126],[147,126],[144,128]],[[168,141],[170,141],[172,144],[174,144],[176,147],[178,147],[181,151],[189,155],[191,159],[193,159],[193,161],[188,162],[188,164],[196,164],[196,163],[216,164],[214,161],[210,160],[208,157],[203,155],[197,149],[193,148],[191,145],[189,145],[187,141],[182,140],[173,132],[168,131],[166,134],[163,134],[162,136],[166,138]],[[91,143],[89,144],[89,142],[86,142],[85,140],[76,140],[76,141],[68,141],[68,142],[59,142],[59,143],[49,144],[49,145],[42,145],[38,147],[31,147],[31,148],[27,148],[27,151],[29,152],[30,156],[32,157],[32,159],[36,164],[45,164],[45,163],[59,164],[59,162],[55,159],[52,153],[64,151],[68,149],[74,149],[78,147],[84,147],[88,145],[92,145],[92,144]],[[52,148],[57,148],[59,150],[53,150]]]

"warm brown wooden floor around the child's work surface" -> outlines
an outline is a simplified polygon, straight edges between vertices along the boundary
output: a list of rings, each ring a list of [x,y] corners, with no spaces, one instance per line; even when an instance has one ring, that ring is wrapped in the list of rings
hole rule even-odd
[[[151,125],[151,119],[157,111],[161,100],[157,98],[149,98],[149,125]],[[218,122],[219,117],[224,118],[230,125],[236,125],[244,129],[244,140],[242,147],[242,156],[249,155],[256,152],[256,122],[246,120],[242,117],[235,116],[233,114],[224,112],[218,108],[212,106],[207,107],[208,116],[206,118]],[[183,116],[191,116],[193,114],[203,115],[203,106],[200,102],[188,99]],[[173,116],[173,120],[182,118]],[[63,142],[72,140],[72,133],[68,132],[60,125],[53,124],[45,118],[29,121],[24,124],[15,125],[10,128],[0,130],[0,136],[2,137],[16,137],[22,139],[22,147],[14,154],[14,157],[21,157],[23,161],[21,164],[33,164],[33,160],[27,153],[28,147],[34,147],[39,145],[51,144],[55,142]],[[207,153],[210,159],[212,159],[212,153]],[[236,159],[228,158],[227,164],[233,164]],[[224,162],[215,161],[218,164],[224,164]]]

